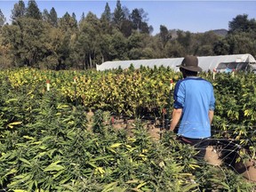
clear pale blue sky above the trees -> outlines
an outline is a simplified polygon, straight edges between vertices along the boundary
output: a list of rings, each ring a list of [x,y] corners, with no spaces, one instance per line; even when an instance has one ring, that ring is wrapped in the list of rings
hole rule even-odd
[[[18,2],[19,0],[0,0],[0,9],[7,21],[10,19],[14,4]],[[148,25],[154,28],[153,35],[159,33],[160,25],[164,25],[168,29],[201,33],[212,29],[224,28],[228,30],[228,22],[239,14],[247,14],[249,20],[256,20],[256,0],[121,0],[120,2],[130,12],[135,8],[142,8],[144,12],[147,12]],[[28,1],[24,0],[24,3],[27,7]],[[88,12],[92,12],[100,18],[107,3],[110,11],[114,12],[116,0],[36,0],[41,12],[44,9],[50,12],[54,7],[59,18],[66,12],[70,15],[75,12],[76,20],[81,19],[83,12],[85,16]]]

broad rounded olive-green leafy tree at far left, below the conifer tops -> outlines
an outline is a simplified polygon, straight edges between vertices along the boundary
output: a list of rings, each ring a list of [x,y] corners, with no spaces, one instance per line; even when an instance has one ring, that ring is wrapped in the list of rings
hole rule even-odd
[[[39,63],[52,54],[48,44],[50,26],[43,20],[20,18],[4,26],[4,44],[10,44],[12,60],[16,66],[39,68]]]

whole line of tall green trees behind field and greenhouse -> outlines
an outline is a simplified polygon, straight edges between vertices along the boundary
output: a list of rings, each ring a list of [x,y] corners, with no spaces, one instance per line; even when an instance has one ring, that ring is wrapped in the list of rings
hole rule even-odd
[[[251,53],[256,56],[256,21],[247,14],[228,22],[226,35],[216,31],[191,33],[168,29],[160,32],[148,24],[142,8],[130,10],[116,1],[111,12],[108,3],[98,18],[93,12],[66,12],[58,17],[54,7],[41,12],[35,0],[13,5],[12,23],[0,10],[0,68],[32,67],[48,69],[95,68],[108,60],[145,60]]]

